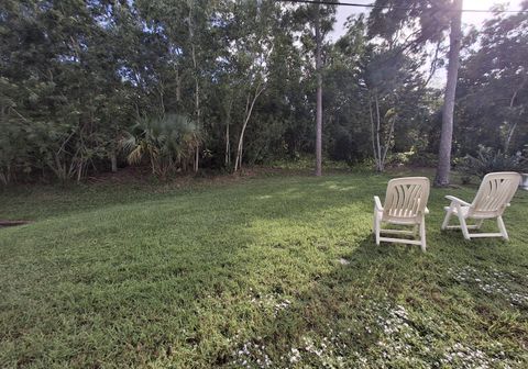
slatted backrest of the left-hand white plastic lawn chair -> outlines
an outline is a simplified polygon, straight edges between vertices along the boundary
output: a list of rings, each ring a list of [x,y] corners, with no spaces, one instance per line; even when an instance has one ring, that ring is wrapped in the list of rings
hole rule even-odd
[[[411,220],[420,217],[429,198],[429,179],[426,177],[395,178],[388,181],[384,217]]]

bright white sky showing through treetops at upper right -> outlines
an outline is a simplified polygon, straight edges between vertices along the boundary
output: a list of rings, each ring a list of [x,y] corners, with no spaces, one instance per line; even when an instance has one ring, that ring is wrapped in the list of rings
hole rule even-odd
[[[353,2],[353,3],[373,3],[374,0],[341,0],[343,2]],[[508,10],[518,10],[520,9],[521,0],[464,0],[464,9],[475,9],[475,10],[488,10],[494,4],[501,3],[506,4],[509,3],[507,7]],[[333,32],[330,34],[330,38],[333,41],[338,40],[342,34],[344,34],[343,24],[346,21],[346,18],[351,14],[358,13],[369,13],[369,8],[356,8],[356,7],[338,7],[338,11],[336,14],[336,25],[333,27]],[[482,23],[490,18],[490,13],[463,13],[462,14],[462,22],[466,25],[475,25],[476,27],[481,26]]]

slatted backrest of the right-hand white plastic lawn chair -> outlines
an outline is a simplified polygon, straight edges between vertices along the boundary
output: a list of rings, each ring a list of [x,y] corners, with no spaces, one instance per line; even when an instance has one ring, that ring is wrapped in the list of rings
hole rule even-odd
[[[519,187],[521,176],[515,171],[487,174],[473,200],[469,216],[494,217],[502,215]]]

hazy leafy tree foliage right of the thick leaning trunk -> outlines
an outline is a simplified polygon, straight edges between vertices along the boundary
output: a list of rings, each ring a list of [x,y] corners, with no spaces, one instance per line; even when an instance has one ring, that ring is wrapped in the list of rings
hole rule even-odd
[[[459,155],[475,155],[479,145],[504,154],[522,150],[528,138],[527,25],[528,13],[495,13],[464,38],[472,47],[462,58],[457,90]]]

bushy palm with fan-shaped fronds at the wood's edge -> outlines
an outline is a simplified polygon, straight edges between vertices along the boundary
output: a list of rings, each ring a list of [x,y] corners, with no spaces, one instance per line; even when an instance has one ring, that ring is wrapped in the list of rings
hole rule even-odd
[[[140,164],[147,157],[152,172],[162,178],[185,169],[200,143],[199,126],[182,114],[141,118],[120,141],[129,164]]]

